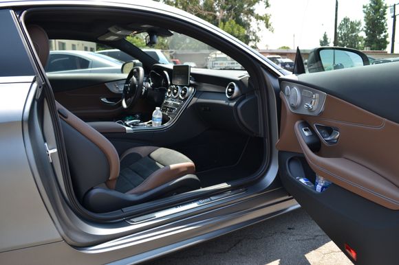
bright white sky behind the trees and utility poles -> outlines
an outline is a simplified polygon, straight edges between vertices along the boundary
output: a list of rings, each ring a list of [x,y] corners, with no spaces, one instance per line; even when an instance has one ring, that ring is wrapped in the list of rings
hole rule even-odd
[[[361,20],[364,25],[363,5],[368,0],[338,0],[338,25],[348,16],[351,20]],[[387,5],[398,3],[398,0],[386,0]],[[330,45],[334,40],[334,12],[335,0],[269,0],[270,8],[258,6],[257,12],[265,11],[272,14],[271,21],[274,32],[265,27],[259,33],[261,41],[259,49],[277,49],[281,46],[312,49],[319,46],[319,40],[324,32],[330,38]],[[399,13],[399,5],[396,8]],[[387,10],[387,25],[389,43],[391,42],[392,21]],[[396,27],[399,30],[399,27]],[[396,32],[395,52],[399,53],[399,32]],[[387,50],[391,50],[390,44]]]

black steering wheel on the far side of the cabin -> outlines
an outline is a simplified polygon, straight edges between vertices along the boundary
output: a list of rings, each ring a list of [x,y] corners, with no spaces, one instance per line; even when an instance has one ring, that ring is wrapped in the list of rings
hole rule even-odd
[[[122,107],[129,108],[137,102],[142,93],[142,84],[144,81],[144,69],[142,67],[133,67],[127,75],[125,85],[122,91]]]

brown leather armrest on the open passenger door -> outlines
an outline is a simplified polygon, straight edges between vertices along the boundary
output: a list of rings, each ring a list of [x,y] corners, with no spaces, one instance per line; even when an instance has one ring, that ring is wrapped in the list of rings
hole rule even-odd
[[[399,189],[396,185],[349,159],[320,157],[315,154],[308,148],[299,132],[298,125],[301,122],[303,121],[296,122],[294,127],[296,139],[298,139],[306,161],[314,172],[375,203],[389,209],[399,209]]]

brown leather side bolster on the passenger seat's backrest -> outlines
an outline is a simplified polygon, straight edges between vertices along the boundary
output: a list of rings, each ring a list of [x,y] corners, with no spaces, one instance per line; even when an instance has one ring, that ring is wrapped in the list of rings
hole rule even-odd
[[[94,130],[94,128],[91,128],[91,126],[83,122],[83,120],[69,112],[58,102],[56,102],[56,108],[57,111],[62,110],[61,113],[63,114],[59,115],[61,119],[67,122],[67,124],[72,126],[75,130],[78,130],[78,132],[87,137],[87,139],[95,143],[96,146],[104,152],[109,161],[109,180],[118,178],[120,166],[119,155],[112,143],[108,141],[107,138],[103,137],[103,135],[98,133],[98,131]]]

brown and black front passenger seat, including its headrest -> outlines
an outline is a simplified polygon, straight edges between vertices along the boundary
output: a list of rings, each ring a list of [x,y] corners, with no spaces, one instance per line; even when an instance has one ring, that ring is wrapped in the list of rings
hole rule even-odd
[[[28,26],[43,67],[50,53],[43,28]],[[139,146],[120,157],[111,142],[56,102],[74,192],[90,211],[107,212],[200,188],[195,165],[180,152]]]

